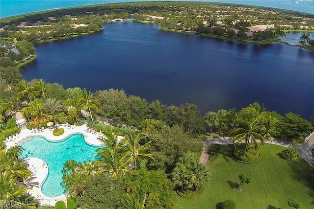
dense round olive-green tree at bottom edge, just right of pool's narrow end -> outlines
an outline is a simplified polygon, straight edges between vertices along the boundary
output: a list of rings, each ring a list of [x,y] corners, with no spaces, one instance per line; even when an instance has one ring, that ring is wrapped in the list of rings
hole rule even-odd
[[[90,209],[115,209],[122,207],[124,193],[120,180],[111,179],[103,173],[87,181],[84,195],[77,198],[77,203]]]

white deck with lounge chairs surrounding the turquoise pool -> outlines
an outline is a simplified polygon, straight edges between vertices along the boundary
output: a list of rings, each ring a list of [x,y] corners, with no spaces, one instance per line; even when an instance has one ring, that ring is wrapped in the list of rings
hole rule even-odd
[[[25,139],[29,139],[34,136],[45,137],[46,139],[51,140],[51,141],[59,141],[75,133],[83,134],[85,141],[88,144],[91,144],[91,145],[103,144],[99,139],[97,139],[100,133],[93,134],[93,133],[86,132],[86,129],[87,129],[86,124],[82,126],[72,125],[71,128],[68,128],[67,126],[65,126],[65,124],[64,125],[60,124],[59,128],[64,129],[64,134],[57,137],[53,136],[52,130],[49,130],[49,129],[44,129],[43,132],[41,131],[34,132],[32,130],[23,129],[21,130],[20,134],[18,134],[16,137],[13,138],[13,140],[6,142],[6,146],[7,148],[10,148],[12,146],[19,145]],[[46,177],[49,171],[49,167],[47,166],[46,162],[38,158],[26,158],[25,160],[29,164],[28,169],[32,172],[31,177],[29,177],[26,180],[26,185],[32,185],[31,188],[27,190],[27,192],[30,193],[33,197],[39,199],[40,205],[54,206],[55,203],[59,200],[62,200],[66,203],[67,193],[59,197],[47,197],[41,191],[41,186],[46,180]]]

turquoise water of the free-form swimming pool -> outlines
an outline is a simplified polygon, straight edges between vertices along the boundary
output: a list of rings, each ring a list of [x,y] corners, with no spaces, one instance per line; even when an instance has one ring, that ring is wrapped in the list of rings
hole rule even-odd
[[[61,141],[48,141],[44,137],[32,137],[22,143],[22,158],[39,158],[48,165],[49,173],[42,185],[47,197],[57,197],[65,193],[62,183],[63,164],[68,160],[76,162],[94,161],[101,146],[92,146],[85,142],[82,134],[73,134]]]

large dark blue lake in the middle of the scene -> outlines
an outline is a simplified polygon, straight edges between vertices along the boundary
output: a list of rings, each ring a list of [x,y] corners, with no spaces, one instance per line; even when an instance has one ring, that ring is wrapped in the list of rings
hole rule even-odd
[[[194,103],[203,114],[255,101],[283,115],[314,114],[314,53],[297,46],[242,44],[124,22],[36,48],[37,59],[20,70],[28,81],[124,89],[167,105]]]

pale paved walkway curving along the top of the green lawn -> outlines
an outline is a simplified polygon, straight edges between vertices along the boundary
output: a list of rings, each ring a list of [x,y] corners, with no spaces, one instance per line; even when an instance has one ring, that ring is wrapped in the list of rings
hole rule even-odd
[[[297,147],[299,155],[311,165],[312,149],[314,148],[314,132],[303,143],[292,143],[283,139],[266,140],[267,144],[276,144],[283,147],[289,147],[295,145]],[[200,158],[200,162],[206,164],[208,161],[208,146],[212,144],[228,145],[233,144],[232,137],[203,139],[203,153]],[[206,148],[207,147],[207,148]]]

